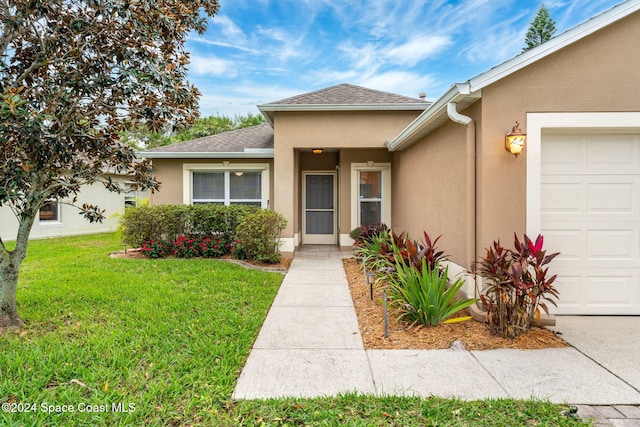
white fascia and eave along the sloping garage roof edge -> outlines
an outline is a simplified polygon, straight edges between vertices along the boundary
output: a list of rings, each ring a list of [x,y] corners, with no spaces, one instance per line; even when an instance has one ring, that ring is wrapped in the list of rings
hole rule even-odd
[[[640,10],[640,0],[629,0],[608,11],[573,27],[559,36],[528,50],[482,74],[454,84],[449,91],[436,100],[398,136],[387,143],[389,151],[402,150],[428,135],[449,120],[447,108],[450,103],[460,110],[482,98],[482,89],[513,73],[563,49],[593,33]]]

